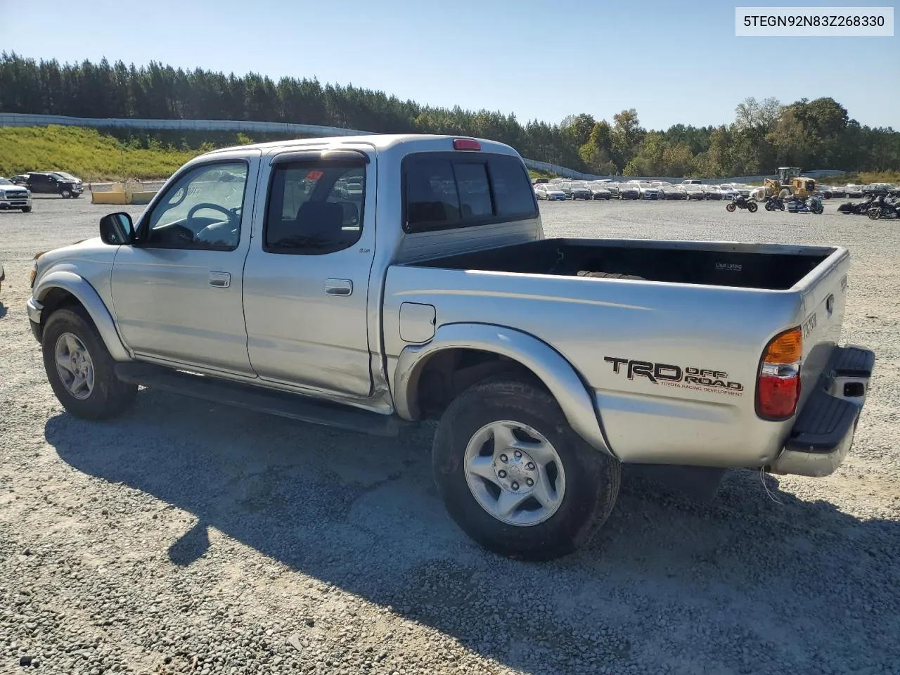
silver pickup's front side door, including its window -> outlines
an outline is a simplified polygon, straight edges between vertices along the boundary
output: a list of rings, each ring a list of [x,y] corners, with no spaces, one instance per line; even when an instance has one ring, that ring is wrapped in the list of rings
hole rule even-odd
[[[254,374],[243,270],[260,155],[240,150],[188,166],[144,212],[135,243],[120,247],[112,302],[139,356]]]

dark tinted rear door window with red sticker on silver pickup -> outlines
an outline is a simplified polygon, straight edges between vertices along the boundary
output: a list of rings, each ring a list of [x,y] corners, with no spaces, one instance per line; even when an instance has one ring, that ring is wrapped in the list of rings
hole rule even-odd
[[[363,234],[365,166],[302,162],[275,167],[266,206],[264,249],[320,256]]]

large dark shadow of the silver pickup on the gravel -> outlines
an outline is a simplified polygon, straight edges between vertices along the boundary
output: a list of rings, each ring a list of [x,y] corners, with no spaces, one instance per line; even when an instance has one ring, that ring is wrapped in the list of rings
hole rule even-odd
[[[528,564],[483,552],[446,516],[428,428],[370,438],[142,391],[121,419],[64,413],[45,435],[76,470],[193,514],[159,545],[172,565],[206,553],[214,527],[522,671],[755,672],[761,654],[815,671],[848,645],[862,671],[900,662],[879,639],[900,619],[873,610],[897,607],[900,526],[768,478],[775,503],[759,474],[734,472],[707,505],[626,482],[591,545]],[[156,522],[139,524],[144,536]]]

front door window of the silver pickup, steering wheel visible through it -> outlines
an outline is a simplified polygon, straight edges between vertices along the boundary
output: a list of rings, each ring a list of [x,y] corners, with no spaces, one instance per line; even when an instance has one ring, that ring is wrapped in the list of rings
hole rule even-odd
[[[195,166],[153,206],[138,243],[151,248],[233,251],[247,192],[247,162]]]

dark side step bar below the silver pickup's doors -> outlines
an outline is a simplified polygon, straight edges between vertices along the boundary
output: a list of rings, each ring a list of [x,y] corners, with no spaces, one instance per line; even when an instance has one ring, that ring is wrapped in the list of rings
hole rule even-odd
[[[397,437],[409,423],[396,415],[381,415],[330,401],[273,389],[232,383],[210,375],[190,374],[161,365],[118,363],[115,374],[122,381],[150,389],[175,392],[204,401],[257,410],[279,417],[356,431],[372,436]]]

